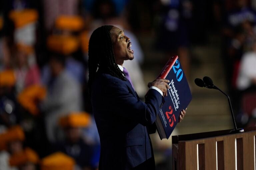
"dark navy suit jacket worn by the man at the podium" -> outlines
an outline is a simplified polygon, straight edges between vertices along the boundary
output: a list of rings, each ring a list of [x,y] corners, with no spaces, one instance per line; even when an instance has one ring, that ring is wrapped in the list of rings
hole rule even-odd
[[[157,90],[150,89],[142,102],[128,80],[98,71],[91,99],[101,143],[99,170],[132,169],[153,156],[147,126],[163,100]]]

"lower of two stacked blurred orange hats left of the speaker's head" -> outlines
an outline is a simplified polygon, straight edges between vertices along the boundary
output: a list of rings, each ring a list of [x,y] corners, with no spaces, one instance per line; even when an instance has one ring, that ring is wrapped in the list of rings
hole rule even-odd
[[[74,36],[52,35],[48,37],[47,46],[55,52],[68,55],[78,49],[79,39]]]

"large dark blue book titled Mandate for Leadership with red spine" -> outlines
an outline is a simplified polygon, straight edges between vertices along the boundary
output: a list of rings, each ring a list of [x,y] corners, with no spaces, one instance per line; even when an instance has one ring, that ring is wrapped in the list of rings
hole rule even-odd
[[[182,109],[186,109],[192,99],[191,91],[182,70],[178,56],[172,56],[158,78],[170,80],[170,89],[164,97],[164,104],[156,116],[156,128],[160,139],[169,138],[179,122]]]

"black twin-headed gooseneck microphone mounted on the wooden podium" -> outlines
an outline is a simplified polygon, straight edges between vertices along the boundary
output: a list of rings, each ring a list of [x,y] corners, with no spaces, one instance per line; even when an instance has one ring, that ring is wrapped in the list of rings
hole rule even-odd
[[[235,121],[235,117],[234,117],[234,113],[233,113],[233,109],[232,109],[232,106],[231,106],[231,102],[230,102],[229,96],[228,96],[226,93],[224,93],[222,90],[220,90],[217,86],[215,86],[215,85],[213,84],[212,79],[211,79],[210,77],[208,77],[208,76],[205,76],[205,77],[203,78],[203,80],[200,79],[200,78],[196,78],[196,79],[195,79],[195,83],[196,83],[196,85],[199,86],[199,87],[206,87],[206,88],[208,88],[208,89],[216,89],[216,90],[219,90],[221,93],[223,93],[225,96],[227,96],[227,98],[228,98],[228,104],[229,104],[229,109],[230,109],[231,116],[232,116],[232,120],[233,120],[233,124],[234,124],[234,127],[235,127],[235,129],[231,130],[230,133],[243,132],[243,131],[244,131],[243,128],[237,129],[237,127],[236,127],[236,121]]]

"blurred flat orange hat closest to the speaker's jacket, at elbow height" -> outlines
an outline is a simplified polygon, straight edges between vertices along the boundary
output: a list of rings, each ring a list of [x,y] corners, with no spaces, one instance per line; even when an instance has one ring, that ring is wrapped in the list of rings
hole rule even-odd
[[[91,123],[91,116],[86,112],[71,112],[69,115],[61,117],[59,124],[63,127],[87,127]]]

